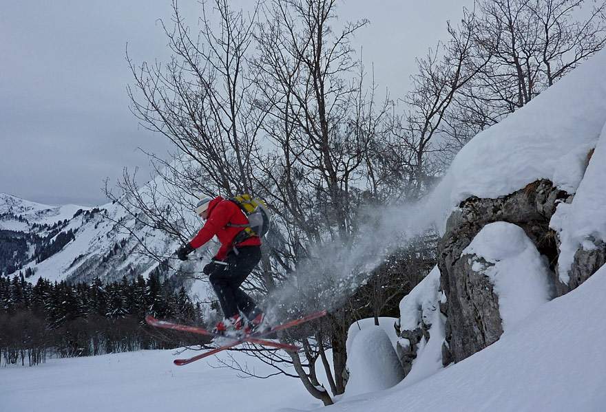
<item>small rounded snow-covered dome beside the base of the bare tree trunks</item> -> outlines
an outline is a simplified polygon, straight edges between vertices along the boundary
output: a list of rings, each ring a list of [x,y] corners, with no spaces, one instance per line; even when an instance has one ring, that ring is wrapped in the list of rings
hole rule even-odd
[[[347,354],[350,378],[344,398],[382,391],[404,378],[404,371],[389,336],[379,326],[357,332]]]

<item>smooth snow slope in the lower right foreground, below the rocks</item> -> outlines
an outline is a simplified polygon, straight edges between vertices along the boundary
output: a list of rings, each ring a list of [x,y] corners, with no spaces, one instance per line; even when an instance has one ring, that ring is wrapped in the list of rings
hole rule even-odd
[[[456,365],[326,411],[604,411],[606,268]]]

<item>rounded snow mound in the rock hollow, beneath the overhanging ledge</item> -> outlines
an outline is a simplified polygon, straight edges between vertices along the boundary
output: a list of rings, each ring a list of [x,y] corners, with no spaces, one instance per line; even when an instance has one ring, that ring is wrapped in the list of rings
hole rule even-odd
[[[484,226],[464,254],[474,255],[472,268],[494,285],[504,333],[553,297],[547,262],[519,226],[503,221]]]

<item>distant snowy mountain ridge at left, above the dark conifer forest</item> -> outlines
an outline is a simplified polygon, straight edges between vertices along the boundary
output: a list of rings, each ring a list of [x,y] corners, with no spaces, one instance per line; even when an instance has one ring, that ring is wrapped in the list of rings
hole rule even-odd
[[[0,271],[21,270],[32,283],[39,277],[90,282],[145,275],[158,263],[133,253],[137,237],[158,254],[176,249],[160,230],[143,227],[114,204],[45,206],[5,193],[0,194],[0,236]]]

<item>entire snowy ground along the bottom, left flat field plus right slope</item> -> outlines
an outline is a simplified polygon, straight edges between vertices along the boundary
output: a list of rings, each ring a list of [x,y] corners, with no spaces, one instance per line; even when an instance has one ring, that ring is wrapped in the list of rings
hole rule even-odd
[[[501,340],[424,380],[343,398],[326,411],[604,411],[606,268],[541,305]],[[174,351],[50,360],[0,368],[2,411],[309,411],[322,404],[293,378],[241,379]],[[258,373],[266,365],[236,354]],[[355,360],[354,360],[355,361]],[[216,364],[216,360],[211,360]],[[413,371],[415,367],[413,366]]]

